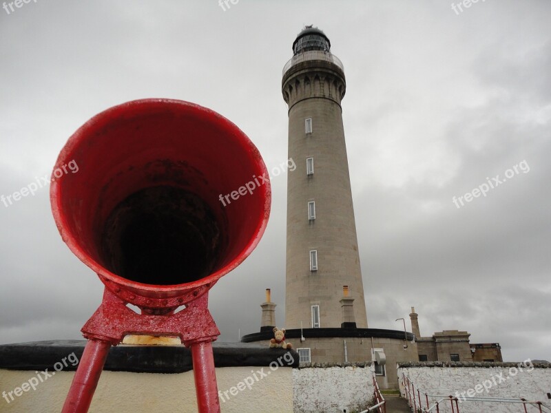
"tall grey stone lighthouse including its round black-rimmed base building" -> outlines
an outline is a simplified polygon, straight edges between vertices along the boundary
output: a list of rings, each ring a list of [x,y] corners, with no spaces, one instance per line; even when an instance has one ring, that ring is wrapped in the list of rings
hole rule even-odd
[[[296,166],[287,174],[285,337],[305,366],[371,360],[381,388],[398,388],[396,363],[417,361],[417,343],[410,332],[367,326],[342,123],[346,79],[322,30],[298,34],[281,86]],[[266,297],[260,331],[241,341],[269,346],[282,326]]]

